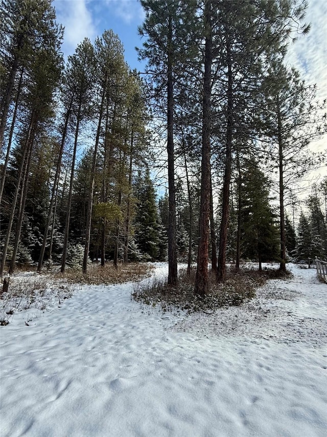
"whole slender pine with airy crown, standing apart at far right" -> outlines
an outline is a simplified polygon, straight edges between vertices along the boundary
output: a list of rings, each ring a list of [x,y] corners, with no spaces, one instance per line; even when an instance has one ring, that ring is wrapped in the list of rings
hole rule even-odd
[[[305,175],[317,163],[309,153],[309,143],[326,132],[326,120],[321,110],[324,103],[316,103],[315,87],[300,80],[295,69],[283,64],[272,66],[267,77],[264,113],[267,134],[273,140],[269,157],[278,169],[279,227],[281,232],[280,269],[286,269],[285,190]]]

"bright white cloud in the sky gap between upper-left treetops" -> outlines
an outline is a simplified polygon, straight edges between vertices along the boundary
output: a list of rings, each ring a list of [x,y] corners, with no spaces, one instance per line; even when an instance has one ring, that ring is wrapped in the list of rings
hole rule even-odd
[[[73,54],[85,37],[94,40],[97,31],[86,0],[55,0],[53,4],[57,21],[65,27],[63,45],[66,54]]]

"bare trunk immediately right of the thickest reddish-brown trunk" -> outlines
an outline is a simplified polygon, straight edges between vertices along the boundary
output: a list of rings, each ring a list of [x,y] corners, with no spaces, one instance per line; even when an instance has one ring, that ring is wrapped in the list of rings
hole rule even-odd
[[[226,53],[227,53],[227,131],[226,131],[226,159],[223,184],[223,204],[221,215],[221,226],[219,236],[219,255],[217,281],[224,282],[226,277],[226,246],[227,246],[227,229],[229,218],[229,184],[231,173],[231,146],[232,146],[232,113],[233,113],[233,95],[232,95],[232,70],[231,70],[231,53],[230,42],[226,35]]]

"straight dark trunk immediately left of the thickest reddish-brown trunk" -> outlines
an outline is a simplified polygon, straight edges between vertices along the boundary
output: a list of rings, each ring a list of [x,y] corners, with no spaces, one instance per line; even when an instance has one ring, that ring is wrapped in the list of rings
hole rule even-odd
[[[174,170],[174,81],[173,81],[173,50],[172,50],[172,16],[168,23],[168,64],[167,64],[167,154],[168,154],[168,285],[177,284],[176,255],[176,201],[175,201],[175,170]]]

